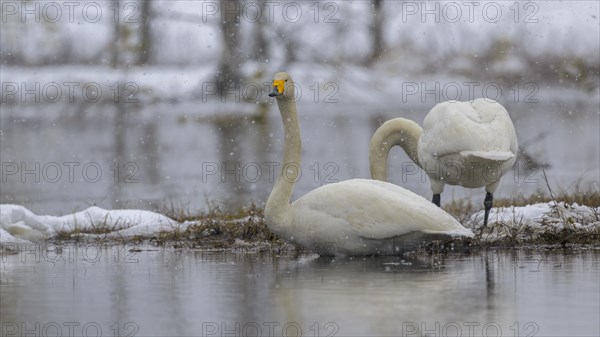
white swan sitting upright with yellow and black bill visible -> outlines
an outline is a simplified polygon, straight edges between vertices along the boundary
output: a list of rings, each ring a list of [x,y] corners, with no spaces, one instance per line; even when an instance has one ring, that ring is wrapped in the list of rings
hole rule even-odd
[[[377,180],[324,185],[290,204],[301,148],[291,77],[277,73],[269,96],[276,97],[285,134],[282,170],[265,206],[274,233],[323,255],[390,255],[422,240],[473,236],[428,200]]]

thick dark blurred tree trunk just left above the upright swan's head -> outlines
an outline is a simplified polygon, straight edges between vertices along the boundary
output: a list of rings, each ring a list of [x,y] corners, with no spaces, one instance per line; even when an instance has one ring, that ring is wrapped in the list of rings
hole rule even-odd
[[[221,95],[224,89],[232,88],[240,83],[241,50],[239,37],[241,4],[238,1],[220,0],[221,32],[223,34],[223,53],[215,76],[217,88]]]

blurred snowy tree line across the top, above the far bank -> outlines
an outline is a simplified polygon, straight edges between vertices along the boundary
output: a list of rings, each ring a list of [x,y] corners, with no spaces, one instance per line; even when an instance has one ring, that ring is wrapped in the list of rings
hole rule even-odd
[[[540,58],[540,51],[525,40],[525,32],[539,25],[512,24],[517,28],[489,29],[479,36],[471,35],[478,30],[473,24],[428,22],[426,26],[418,15],[397,25],[403,1],[72,3],[77,5],[60,6],[63,13],[58,18],[57,8],[51,5],[56,2],[3,1],[2,65],[121,68],[214,63],[215,81],[221,88],[240,83],[245,65],[275,59],[284,66],[298,61],[373,66],[382,59],[398,60],[394,62],[406,63],[400,71],[409,73],[449,71],[471,78],[487,74],[507,82],[526,75],[533,80],[579,82],[588,89],[597,87],[600,68],[597,61],[590,61],[589,52],[577,54],[569,48],[542,52]],[[278,5],[275,10],[273,3]],[[96,6],[101,6],[100,16]],[[299,22],[294,17],[296,6],[301,10]],[[510,24],[512,17],[507,14],[503,19]],[[492,32],[495,35],[489,35]],[[552,47],[550,43],[547,48]],[[596,56],[591,55],[591,59]]]

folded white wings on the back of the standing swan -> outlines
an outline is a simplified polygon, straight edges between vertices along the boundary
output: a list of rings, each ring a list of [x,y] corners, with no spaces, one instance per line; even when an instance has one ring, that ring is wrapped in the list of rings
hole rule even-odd
[[[419,153],[435,157],[461,151],[517,153],[517,136],[508,112],[488,99],[443,102],[423,122]],[[490,155],[493,156],[493,155]],[[420,159],[420,158],[419,158]]]

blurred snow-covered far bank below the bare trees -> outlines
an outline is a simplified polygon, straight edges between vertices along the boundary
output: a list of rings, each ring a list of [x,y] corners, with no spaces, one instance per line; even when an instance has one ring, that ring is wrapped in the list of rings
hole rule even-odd
[[[476,69],[477,66],[480,65],[470,60],[465,68]],[[241,69],[247,80],[228,89],[226,97],[218,94],[213,64],[196,67],[143,66],[126,70],[101,65],[0,66],[0,73],[5,86],[3,103],[19,106],[19,116],[29,118],[39,118],[40,108],[35,108],[35,113],[29,116],[23,114],[23,103],[33,107],[122,103],[131,107],[136,104],[152,106],[157,102],[169,105],[190,102],[191,111],[214,111],[215,106],[238,111],[244,106],[240,103],[248,103],[252,107],[260,102],[272,101],[268,97],[271,76],[282,70],[294,77],[299,87],[299,104],[327,103],[328,110],[348,109],[356,105],[393,110],[399,105],[405,108],[407,105],[424,104],[431,107],[446,100],[467,101],[478,97],[504,104],[550,102],[557,97],[581,102],[598,100],[598,91],[590,90],[597,89],[596,82],[589,87],[558,81],[544,81],[544,85],[540,85],[541,82],[521,74],[519,77],[527,80],[515,84],[501,75],[482,80],[461,75],[458,71],[412,74],[399,67],[394,59],[383,60],[373,68],[296,62],[281,69],[280,66],[271,68],[271,65],[249,63]],[[504,69],[499,71],[501,74],[505,72]],[[206,103],[212,103],[210,109],[198,108]]]

